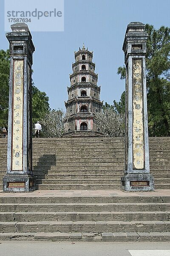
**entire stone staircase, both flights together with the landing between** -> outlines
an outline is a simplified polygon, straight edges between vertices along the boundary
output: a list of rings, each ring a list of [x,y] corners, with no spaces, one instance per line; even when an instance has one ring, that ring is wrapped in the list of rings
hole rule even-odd
[[[0,193],[0,240],[170,241],[170,138],[149,144],[150,172],[161,190],[131,193],[116,190],[124,138],[34,139],[39,190]],[[1,184],[6,151],[1,139]]]

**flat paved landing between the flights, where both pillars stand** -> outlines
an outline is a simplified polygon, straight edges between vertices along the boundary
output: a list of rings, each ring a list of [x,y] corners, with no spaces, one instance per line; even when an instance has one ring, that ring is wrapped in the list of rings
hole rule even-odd
[[[170,189],[155,189],[153,192],[124,192],[121,190],[36,190],[33,192],[3,192],[0,197],[79,197],[79,196],[169,196]]]

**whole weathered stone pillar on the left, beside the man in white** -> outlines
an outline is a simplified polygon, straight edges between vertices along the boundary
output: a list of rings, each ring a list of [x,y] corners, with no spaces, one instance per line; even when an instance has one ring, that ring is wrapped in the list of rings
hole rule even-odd
[[[31,65],[35,50],[25,23],[11,25],[7,174],[3,191],[35,190],[32,175]]]

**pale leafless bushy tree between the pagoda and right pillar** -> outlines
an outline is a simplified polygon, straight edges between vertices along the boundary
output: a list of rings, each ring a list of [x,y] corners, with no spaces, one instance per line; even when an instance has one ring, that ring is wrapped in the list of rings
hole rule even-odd
[[[125,136],[124,114],[115,113],[114,108],[109,106],[95,114],[94,122],[102,128],[105,137],[123,137]]]

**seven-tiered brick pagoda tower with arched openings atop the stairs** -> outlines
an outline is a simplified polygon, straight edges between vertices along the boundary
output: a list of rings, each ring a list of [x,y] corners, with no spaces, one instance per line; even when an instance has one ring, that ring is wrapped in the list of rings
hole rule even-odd
[[[82,49],[74,52],[75,62],[70,75],[68,101],[65,102],[68,115],[64,137],[103,137],[102,129],[94,122],[94,114],[102,109],[98,75],[92,62],[93,52]]]

